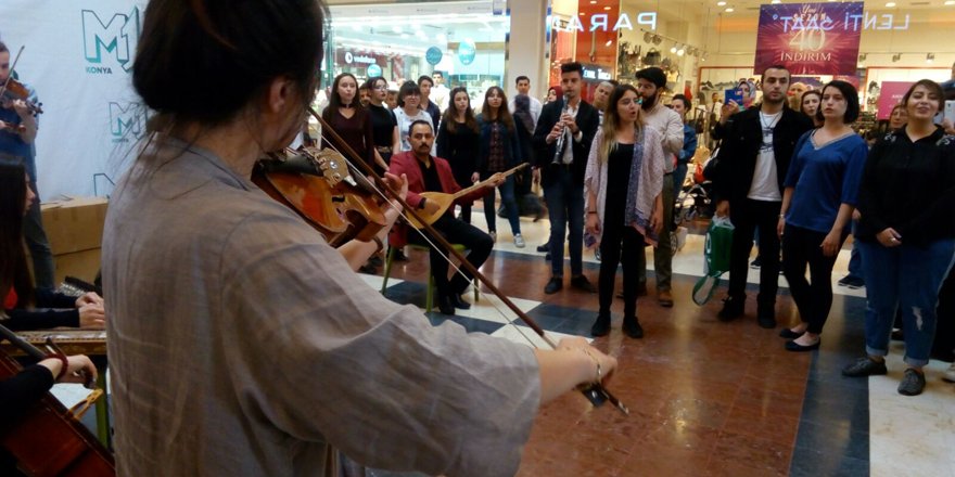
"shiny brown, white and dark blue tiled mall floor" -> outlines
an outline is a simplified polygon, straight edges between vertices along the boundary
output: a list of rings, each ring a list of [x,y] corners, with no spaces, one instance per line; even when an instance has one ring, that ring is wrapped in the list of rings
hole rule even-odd
[[[474,223],[485,228],[479,210]],[[725,280],[705,306],[690,299],[702,271],[704,224],[695,225],[673,261],[676,305],[657,304],[650,271],[650,295],[638,300],[646,337],[621,333],[623,304],[616,300],[613,331],[594,340],[620,361],[608,387],[631,415],[595,409],[575,394],[548,404],[524,448],[520,476],[955,476],[955,385],[940,378],[947,363],[927,368],[928,386],[919,397],[895,391],[904,369],[901,343],[893,344],[888,376],[842,377],[841,368],[864,351],[864,288],[833,285],[822,348],[810,353],[787,352],[777,336],[797,320],[781,276],[776,331],[756,325],[754,271],[746,317],[717,321]],[[507,221],[498,219],[495,252],[482,272],[548,335],[589,337],[597,295],[568,286],[545,295],[549,265],[535,247],[549,223],[523,218],[521,228],[527,246],[519,249]],[[844,249],[833,282],[848,259]],[[426,260],[423,252],[410,250],[409,261],[396,262],[385,295],[423,308]],[[595,283],[598,268],[585,252],[585,273]],[[364,276],[380,288],[381,276]],[[505,315],[510,312],[483,287],[470,310],[430,313],[434,323],[454,320],[472,332],[527,344],[524,335],[533,332],[509,325]]]

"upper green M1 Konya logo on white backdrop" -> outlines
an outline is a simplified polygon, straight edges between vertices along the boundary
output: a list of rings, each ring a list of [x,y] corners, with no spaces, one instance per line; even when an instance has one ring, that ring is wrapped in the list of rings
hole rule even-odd
[[[124,72],[132,69],[132,56],[139,40],[141,25],[139,8],[128,14],[98,14],[82,10],[82,52],[86,72],[93,75],[112,75],[113,67]],[[105,20],[105,21],[104,21]]]

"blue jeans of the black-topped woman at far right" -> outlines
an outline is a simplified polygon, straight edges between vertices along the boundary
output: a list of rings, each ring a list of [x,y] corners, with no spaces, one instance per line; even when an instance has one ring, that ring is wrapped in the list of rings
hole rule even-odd
[[[866,352],[889,353],[895,310],[902,311],[905,362],[920,368],[929,362],[935,335],[939,289],[955,261],[955,238],[932,242],[926,248],[860,242],[866,282]]]

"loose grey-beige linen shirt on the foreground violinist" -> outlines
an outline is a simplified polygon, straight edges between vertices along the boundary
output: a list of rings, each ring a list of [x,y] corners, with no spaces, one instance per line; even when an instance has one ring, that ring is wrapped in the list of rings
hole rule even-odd
[[[532,349],[384,299],[219,158],[157,139],[103,240],[120,476],[510,476]]]

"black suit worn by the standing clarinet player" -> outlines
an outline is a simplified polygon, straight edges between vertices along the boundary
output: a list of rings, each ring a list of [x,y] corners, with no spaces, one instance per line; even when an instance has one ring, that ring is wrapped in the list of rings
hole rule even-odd
[[[584,173],[590,143],[600,121],[597,109],[581,101],[575,117],[581,139],[577,141],[568,136],[564,140],[564,147],[571,147],[573,152],[573,162],[553,165],[557,141],[548,144],[547,134],[560,120],[562,109],[562,101],[548,103],[540,112],[534,130],[535,167],[540,169],[540,185],[544,186],[544,199],[547,201],[550,215],[550,266],[555,278],[563,276],[563,242],[568,233],[571,275],[580,276],[584,271]]]

